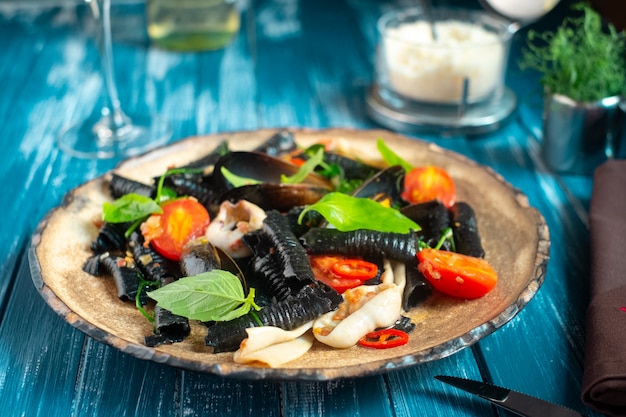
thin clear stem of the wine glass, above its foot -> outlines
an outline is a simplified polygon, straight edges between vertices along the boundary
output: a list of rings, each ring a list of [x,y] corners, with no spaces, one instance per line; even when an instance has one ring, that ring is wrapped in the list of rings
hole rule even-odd
[[[109,119],[109,128],[115,131],[129,124],[129,120],[120,105],[117,85],[115,83],[113,42],[111,37],[111,0],[87,1],[91,6],[94,20],[98,24],[98,51],[100,53],[100,62],[106,90],[102,115]]]

